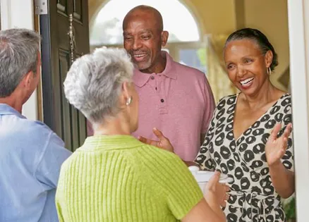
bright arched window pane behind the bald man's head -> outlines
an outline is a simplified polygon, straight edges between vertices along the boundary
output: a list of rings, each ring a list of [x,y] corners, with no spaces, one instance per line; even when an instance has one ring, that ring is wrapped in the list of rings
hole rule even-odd
[[[178,0],[111,0],[97,14],[90,30],[91,45],[122,44],[122,21],[131,8],[149,5],[162,13],[164,30],[169,31],[169,42],[195,42],[200,40],[195,19]],[[121,7],[119,7],[121,6]]]

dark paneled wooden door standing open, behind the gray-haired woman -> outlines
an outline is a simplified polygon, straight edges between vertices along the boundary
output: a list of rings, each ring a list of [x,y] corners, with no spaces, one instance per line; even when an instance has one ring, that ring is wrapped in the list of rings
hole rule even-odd
[[[73,22],[70,22],[70,16]],[[68,32],[73,28],[75,44]],[[50,0],[48,14],[40,16],[42,35],[43,119],[74,151],[85,141],[86,120],[68,104],[63,81],[72,59],[89,52],[87,0]]]

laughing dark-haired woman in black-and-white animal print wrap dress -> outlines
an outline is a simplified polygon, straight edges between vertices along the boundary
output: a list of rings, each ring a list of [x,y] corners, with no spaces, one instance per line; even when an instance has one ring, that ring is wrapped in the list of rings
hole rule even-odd
[[[291,96],[269,80],[277,54],[262,32],[245,28],[226,40],[224,61],[240,93],[219,101],[195,163],[234,179],[224,209],[227,221],[286,221],[281,197],[295,188],[293,140],[280,136],[291,130]],[[154,132],[159,143],[147,142],[172,149]],[[276,147],[279,141],[286,142],[285,149]]]

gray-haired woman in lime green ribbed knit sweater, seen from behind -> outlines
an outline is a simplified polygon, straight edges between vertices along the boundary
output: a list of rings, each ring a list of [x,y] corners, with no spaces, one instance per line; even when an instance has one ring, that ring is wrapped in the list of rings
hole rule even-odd
[[[219,173],[205,198],[183,161],[131,136],[138,128],[133,64],[124,49],[78,58],[64,82],[66,98],[92,123],[61,167],[56,191],[60,221],[225,221],[226,186]]]

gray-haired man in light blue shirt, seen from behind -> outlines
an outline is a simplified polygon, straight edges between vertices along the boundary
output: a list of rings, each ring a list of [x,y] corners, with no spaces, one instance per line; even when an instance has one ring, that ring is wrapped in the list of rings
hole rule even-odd
[[[21,115],[40,66],[40,35],[0,31],[0,221],[58,221],[54,195],[71,152],[47,125]]]

